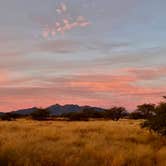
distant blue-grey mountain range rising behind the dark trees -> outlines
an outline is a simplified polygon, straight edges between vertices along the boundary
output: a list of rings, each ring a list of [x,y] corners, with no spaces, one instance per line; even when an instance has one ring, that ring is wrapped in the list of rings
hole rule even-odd
[[[55,104],[55,105],[47,107],[46,109],[48,109],[48,111],[50,112],[50,115],[62,115],[62,114],[70,113],[70,112],[80,112],[86,108],[92,108],[94,111],[97,111],[97,112],[104,111],[103,108],[99,108],[99,107],[79,106],[74,104],[67,104],[67,105]],[[13,111],[12,113],[16,113],[19,115],[30,115],[31,113],[35,111],[37,111],[37,107],[21,109],[21,110]]]

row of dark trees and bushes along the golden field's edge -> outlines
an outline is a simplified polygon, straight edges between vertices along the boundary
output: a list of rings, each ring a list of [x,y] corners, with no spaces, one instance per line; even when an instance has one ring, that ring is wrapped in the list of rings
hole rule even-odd
[[[164,97],[166,98],[166,97]],[[49,110],[38,108],[33,112],[29,118],[33,120],[53,120],[54,116],[51,116]],[[90,119],[106,119],[118,121],[119,119],[144,119],[141,123],[142,128],[147,128],[150,131],[154,131],[160,135],[166,135],[166,102],[155,104],[142,104],[138,105],[134,112],[128,112],[124,107],[112,107],[105,109],[104,111],[96,111],[93,107],[84,108],[79,112],[70,112],[56,116],[56,118],[63,118],[68,121],[88,121]],[[15,113],[6,113],[1,116],[2,120],[16,120],[22,118],[22,115]]]

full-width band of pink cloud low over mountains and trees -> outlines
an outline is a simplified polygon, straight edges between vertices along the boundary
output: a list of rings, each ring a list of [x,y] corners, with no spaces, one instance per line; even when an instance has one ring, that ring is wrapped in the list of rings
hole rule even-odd
[[[136,83],[144,78],[137,77],[131,72],[135,70],[139,69],[127,69],[127,72],[125,72],[126,69],[119,69],[113,72],[114,75],[50,76],[44,80],[38,78],[36,81],[35,76],[27,80],[25,78],[8,80],[7,74],[1,74],[0,79],[5,81],[5,84],[2,84],[0,88],[0,93],[3,94],[0,97],[2,103],[0,111],[31,106],[44,107],[55,103],[102,107],[120,105],[133,110],[138,104],[159,102],[161,96],[165,95],[166,87],[137,85]],[[120,71],[121,74],[119,74]],[[156,78],[156,74],[154,77]]]

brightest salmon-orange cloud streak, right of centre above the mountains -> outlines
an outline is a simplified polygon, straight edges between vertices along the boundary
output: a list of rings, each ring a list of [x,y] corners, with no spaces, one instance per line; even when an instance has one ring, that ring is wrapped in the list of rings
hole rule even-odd
[[[90,75],[89,78],[85,77],[71,81],[72,87],[84,87],[97,92],[105,93],[118,93],[121,95],[132,95],[132,96],[150,96],[150,95],[162,95],[163,91],[166,91],[165,87],[141,87],[135,85],[136,82],[140,81],[133,75],[120,75],[120,76],[96,76],[95,78]],[[95,81],[93,81],[95,79]]]

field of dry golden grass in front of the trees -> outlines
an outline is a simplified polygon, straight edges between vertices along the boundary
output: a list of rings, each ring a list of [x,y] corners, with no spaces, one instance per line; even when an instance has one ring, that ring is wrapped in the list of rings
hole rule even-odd
[[[166,139],[140,121],[0,121],[0,166],[165,166]]]

